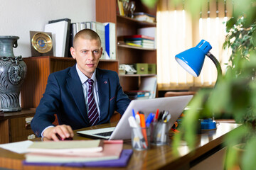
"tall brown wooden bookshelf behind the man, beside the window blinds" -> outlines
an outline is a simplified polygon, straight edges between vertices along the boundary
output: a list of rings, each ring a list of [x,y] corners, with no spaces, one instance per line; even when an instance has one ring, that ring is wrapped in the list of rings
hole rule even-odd
[[[156,16],[156,8],[146,8],[140,0],[135,0],[136,10]],[[156,50],[118,44],[124,35],[136,35],[139,28],[156,27],[156,23],[137,21],[133,18],[117,15],[117,0],[96,0],[96,21],[116,23],[117,27],[117,60],[119,64],[150,63],[156,64]],[[120,84],[124,91],[138,90],[141,77],[152,77],[156,74],[119,74]]]

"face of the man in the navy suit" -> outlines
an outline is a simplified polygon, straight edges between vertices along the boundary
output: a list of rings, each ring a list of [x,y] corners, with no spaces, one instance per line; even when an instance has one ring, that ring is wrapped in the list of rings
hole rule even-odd
[[[70,48],[72,57],[78,63],[78,69],[88,78],[92,77],[102,55],[102,47],[97,40],[78,38],[74,47]]]

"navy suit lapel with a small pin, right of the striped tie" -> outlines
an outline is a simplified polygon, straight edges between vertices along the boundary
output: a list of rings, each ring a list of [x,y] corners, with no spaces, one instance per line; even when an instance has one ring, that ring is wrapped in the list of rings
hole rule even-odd
[[[100,120],[105,120],[109,112],[110,82],[108,77],[104,77],[100,72],[100,69],[97,69],[96,76],[100,101]]]

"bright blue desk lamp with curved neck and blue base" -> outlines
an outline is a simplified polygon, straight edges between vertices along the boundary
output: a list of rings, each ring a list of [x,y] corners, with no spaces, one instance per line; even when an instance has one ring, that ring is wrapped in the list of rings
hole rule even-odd
[[[201,42],[199,42],[196,47],[192,47],[191,49],[179,53],[175,56],[175,59],[178,64],[180,64],[183,69],[186,69],[186,71],[190,73],[193,77],[198,77],[201,73],[205,57],[208,56],[217,68],[218,77],[221,77],[222,70],[220,67],[220,63],[209,52],[211,49],[212,47],[209,42],[207,42],[206,40],[201,40]],[[218,77],[216,83],[218,81]],[[212,119],[205,119],[201,121],[201,130],[211,130],[215,128],[216,123]]]

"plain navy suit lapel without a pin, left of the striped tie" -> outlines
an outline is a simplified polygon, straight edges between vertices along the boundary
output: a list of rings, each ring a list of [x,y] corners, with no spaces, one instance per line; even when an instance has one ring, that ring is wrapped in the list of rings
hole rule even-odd
[[[73,100],[82,115],[82,118],[85,119],[85,122],[89,124],[89,119],[87,117],[87,111],[85,106],[85,97],[82,91],[82,85],[80,78],[78,77],[78,72],[76,71],[75,66],[70,69],[68,73],[70,77],[67,79],[67,84],[70,89],[70,92],[73,96]]]

